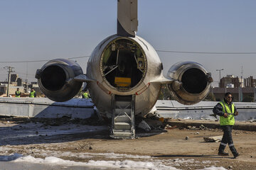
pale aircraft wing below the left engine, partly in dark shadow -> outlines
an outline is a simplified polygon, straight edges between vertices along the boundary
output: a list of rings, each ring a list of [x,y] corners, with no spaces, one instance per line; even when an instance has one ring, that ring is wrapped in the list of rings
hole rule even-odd
[[[90,99],[73,98],[66,102],[48,98],[0,98],[0,115],[36,118],[90,118],[94,106]]]

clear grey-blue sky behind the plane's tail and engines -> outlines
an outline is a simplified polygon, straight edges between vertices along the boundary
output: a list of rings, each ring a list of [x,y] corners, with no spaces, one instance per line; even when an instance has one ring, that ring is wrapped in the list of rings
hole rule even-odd
[[[188,54],[158,52],[164,73],[179,61],[203,64],[219,80],[233,74],[256,78],[255,0],[138,0],[137,35],[156,50],[182,52],[254,52]],[[3,67],[36,81],[34,74],[54,58],[82,57],[117,32],[117,0],[1,0],[0,81]],[[86,71],[87,57],[75,59]],[[4,62],[4,63],[3,63]],[[18,62],[18,63],[14,63]],[[213,86],[217,86],[213,83]]]

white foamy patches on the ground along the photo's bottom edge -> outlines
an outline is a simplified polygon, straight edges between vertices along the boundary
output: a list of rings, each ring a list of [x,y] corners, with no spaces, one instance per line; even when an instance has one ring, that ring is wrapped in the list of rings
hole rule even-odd
[[[67,152],[65,154],[68,154]],[[110,155],[114,155],[114,153],[110,153]],[[119,155],[119,154],[117,154]],[[124,157],[133,157],[133,155],[125,155],[122,154]],[[136,156],[137,157],[137,156]],[[175,161],[174,161],[175,160]],[[90,167],[107,167],[107,168],[119,168],[119,169],[150,169],[150,170],[177,170],[173,165],[166,165],[163,164],[163,161],[159,159],[149,159],[145,160],[144,162],[142,161],[133,161],[133,160],[124,160],[124,161],[94,161],[90,160],[89,162],[73,162],[70,160],[64,160],[60,159],[58,157],[45,157],[44,159],[42,158],[35,158],[32,157],[31,155],[28,156],[23,156],[22,154],[10,154],[10,155],[5,155],[5,156],[0,156],[0,161],[1,162],[33,162],[33,164],[53,164],[53,165],[65,165],[65,166],[90,166]],[[166,162],[165,160],[164,162]],[[197,163],[193,159],[169,159],[168,161],[170,162],[179,162],[179,163]],[[167,162],[168,162],[167,161]],[[169,162],[169,163],[170,163]],[[210,163],[210,162],[209,162]],[[205,162],[206,164],[206,162]],[[200,169],[200,170],[225,170],[223,167],[215,167],[215,166],[210,166],[205,169]]]

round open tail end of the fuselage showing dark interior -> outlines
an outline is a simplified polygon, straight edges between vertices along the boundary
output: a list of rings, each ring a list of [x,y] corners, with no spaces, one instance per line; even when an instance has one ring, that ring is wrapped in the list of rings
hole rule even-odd
[[[118,91],[129,91],[146,75],[146,56],[137,42],[117,38],[107,45],[100,61],[102,77]]]

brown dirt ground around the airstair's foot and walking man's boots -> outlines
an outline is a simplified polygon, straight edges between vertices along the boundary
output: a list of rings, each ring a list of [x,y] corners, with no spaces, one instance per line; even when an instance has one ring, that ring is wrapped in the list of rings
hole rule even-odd
[[[2,120],[4,121],[4,120]],[[158,134],[157,134],[158,133]],[[87,152],[132,154],[150,156],[151,159],[161,159],[162,162],[178,162],[172,164],[177,169],[203,169],[208,166],[223,166],[225,169],[256,169],[256,132],[246,130],[233,130],[233,141],[240,157],[233,159],[229,148],[225,149],[230,156],[218,156],[220,142],[205,142],[203,137],[223,135],[222,130],[216,128],[170,128],[164,132],[152,133],[151,136],[142,137],[146,133],[137,132],[137,139],[114,140],[109,137],[107,130],[99,132],[83,132],[72,135],[56,135],[54,137],[41,137],[33,142],[23,145],[2,145],[9,147],[9,153],[30,154],[33,157],[44,157],[38,152]],[[147,133],[146,135],[149,135]],[[187,140],[186,140],[187,138]],[[63,140],[65,139],[65,140]],[[40,142],[35,142],[40,140]],[[70,157],[61,156],[62,159]],[[94,160],[111,160],[100,155]],[[73,161],[88,162],[90,158],[73,157]],[[139,157],[133,158],[139,161]],[[181,162],[183,160],[183,162]],[[207,166],[206,166],[207,165]]]

